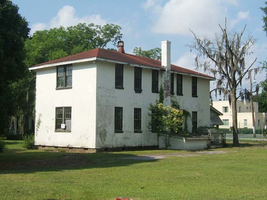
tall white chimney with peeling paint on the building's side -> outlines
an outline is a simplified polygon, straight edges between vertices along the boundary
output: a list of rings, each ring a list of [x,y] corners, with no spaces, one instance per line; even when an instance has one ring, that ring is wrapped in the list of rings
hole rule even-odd
[[[161,66],[166,69],[163,72],[162,85],[164,89],[164,106],[170,106],[170,41],[161,42]]]

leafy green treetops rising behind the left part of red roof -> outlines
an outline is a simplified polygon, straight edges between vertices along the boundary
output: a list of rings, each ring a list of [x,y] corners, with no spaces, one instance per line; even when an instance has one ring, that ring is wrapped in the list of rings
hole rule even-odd
[[[67,28],[36,31],[25,43],[25,63],[32,66],[97,47],[104,48],[108,43],[116,46],[122,37],[120,30],[115,24],[80,23]]]

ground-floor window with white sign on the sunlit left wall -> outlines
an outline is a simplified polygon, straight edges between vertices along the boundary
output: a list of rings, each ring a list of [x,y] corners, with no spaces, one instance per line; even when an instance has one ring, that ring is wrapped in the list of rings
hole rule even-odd
[[[56,108],[56,131],[71,130],[71,107]]]

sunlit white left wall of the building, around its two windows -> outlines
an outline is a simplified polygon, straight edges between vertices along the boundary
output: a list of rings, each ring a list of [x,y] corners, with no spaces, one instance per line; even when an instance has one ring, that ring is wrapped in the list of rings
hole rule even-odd
[[[72,89],[56,90],[56,67],[36,71],[35,145],[96,148],[96,66],[73,64]],[[71,107],[71,132],[55,132],[55,108]]]

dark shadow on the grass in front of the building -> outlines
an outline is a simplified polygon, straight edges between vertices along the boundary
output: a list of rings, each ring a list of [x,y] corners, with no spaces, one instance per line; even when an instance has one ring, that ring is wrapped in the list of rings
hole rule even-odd
[[[12,149],[0,154],[0,174],[130,166],[157,159],[127,159],[123,153],[62,153]],[[125,158],[125,159],[121,159]]]

